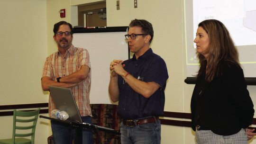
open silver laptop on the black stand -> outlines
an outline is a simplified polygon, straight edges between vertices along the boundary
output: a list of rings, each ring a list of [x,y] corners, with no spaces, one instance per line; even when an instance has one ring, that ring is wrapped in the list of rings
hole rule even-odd
[[[88,126],[93,126],[103,131],[106,131],[106,130],[115,131],[114,129],[111,129],[111,128],[92,125],[89,123],[83,123],[71,89],[55,87],[55,86],[49,86],[49,89],[50,89],[52,98],[54,100],[55,108],[59,110],[64,110],[68,113],[69,117],[67,120],[78,122],[80,124],[84,124]]]

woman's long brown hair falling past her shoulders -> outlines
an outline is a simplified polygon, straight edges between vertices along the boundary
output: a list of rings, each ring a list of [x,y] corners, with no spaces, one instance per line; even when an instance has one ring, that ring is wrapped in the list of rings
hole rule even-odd
[[[202,54],[197,53],[200,63],[200,69],[197,76],[200,76],[207,67],[205,80],[206,82],[210,82],[215,76],[221,74],[221,62],[230,61],[237,63],[240,66],[238,50],[229,35],[228,29],[223,23],[216,19],[208,19],[199,23],[198,27],[202,27],[208,34],[209,46],[207,57],[208,63]]]

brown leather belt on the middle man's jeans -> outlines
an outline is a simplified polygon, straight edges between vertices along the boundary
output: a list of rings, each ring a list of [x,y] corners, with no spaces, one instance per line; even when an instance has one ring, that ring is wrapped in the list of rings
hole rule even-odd
[[[133,127],[133,126],[137,126],[137,125],[142,125],[142,124],[147,124],[147,123],[155,123],[156,121],[159,120],[159,117],[149,117],[149,118],[146,118],[146,119],[138,119],[138,120],[125,120],[125,119],[122,119],[122,122],[124,125],[126,126],[130,126],[130,127]]]

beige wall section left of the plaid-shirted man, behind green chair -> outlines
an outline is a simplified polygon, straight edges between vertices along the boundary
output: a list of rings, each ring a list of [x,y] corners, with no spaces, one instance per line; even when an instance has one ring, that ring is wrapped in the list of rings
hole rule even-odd
[[[45,103],[46,0],[0,0],[0,105]],[[45,116],[47,116],[46,114]],[[0,139],[12,137],[13,117],[0,117]],[[38,118],[36,144],[46,144],[49,121]]]

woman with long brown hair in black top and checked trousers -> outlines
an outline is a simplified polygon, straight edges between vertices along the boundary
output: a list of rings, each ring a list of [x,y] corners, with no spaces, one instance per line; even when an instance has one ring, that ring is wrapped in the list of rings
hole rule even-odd
[[[192,94],[192,129],[196,144],[247,144],[254,109],[238,50],[227,28],[215,19],[198,25],[200,69]]]

